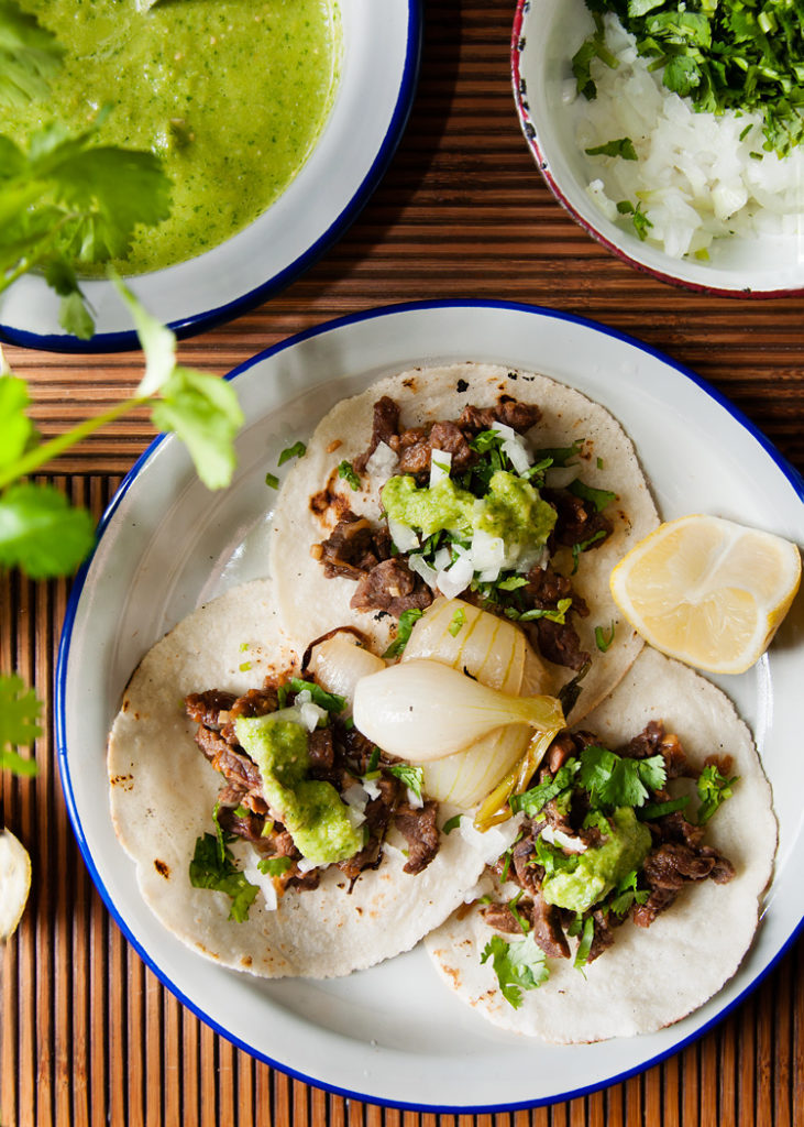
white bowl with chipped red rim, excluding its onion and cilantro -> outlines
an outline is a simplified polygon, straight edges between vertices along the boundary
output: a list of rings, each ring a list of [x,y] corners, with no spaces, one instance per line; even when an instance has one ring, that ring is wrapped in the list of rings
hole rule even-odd
[[[513,96],[525,139],[555,197],[608,250],[663,282],[730,296],[804,289],[804,222],[797,237],[716,240],[709,261],[671,258],[608,220],[590,198],[572,107],[570,60],[593,29],[583,0],[518,0],[511,38]]]

